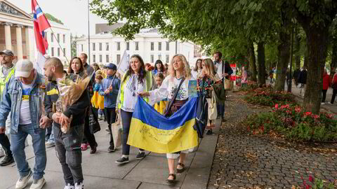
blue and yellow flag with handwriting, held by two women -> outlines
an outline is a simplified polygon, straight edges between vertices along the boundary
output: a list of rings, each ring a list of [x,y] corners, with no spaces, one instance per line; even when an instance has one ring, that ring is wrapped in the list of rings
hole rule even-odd
[[[170,118],[166,118],[138,97],[133,112],[128,144],[154,153],[175,153],[198,145],[197,98],[188,100]]]

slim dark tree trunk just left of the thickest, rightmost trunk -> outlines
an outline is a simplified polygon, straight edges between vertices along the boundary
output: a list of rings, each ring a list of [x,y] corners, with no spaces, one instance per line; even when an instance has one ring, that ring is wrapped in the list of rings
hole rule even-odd
[[[279,53],[279,63],[277,64],[275,90],[284,91],[284,81],[286,80],[286,68],[289,64],[290,58],[290,38],[291,35],[289,25],[291,20],[285,17],[285,13],[282,11],[282,28],[279,33],[279,46],[277,47]]]

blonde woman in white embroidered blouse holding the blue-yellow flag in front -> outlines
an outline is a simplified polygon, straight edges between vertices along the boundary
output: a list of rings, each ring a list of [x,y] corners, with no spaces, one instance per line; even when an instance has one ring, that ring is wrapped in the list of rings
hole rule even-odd
[[[173,100],[173,105],[168,111],[168,116],[172,116],[173,113],[178,111],[181,106],[187,102],[188,99],[188,81],[193,79],[191,75],[190,65],[184,55],[174,55],[169,66],[169,76],[167,76],[161,86],[149,92],[140,92],[140,97],[149,97],[150,104],[160,102],[163,99],[168,99],[170,102]],[[181,85],[180,85],[181,83]],[[178,87],[180,85],[180,87]],[[179,89],[178,89],[179,88]],[[173,99],[174,94],[178,92],[176,99]],[[179,155],[180,153],[180,155]],[[173,183],[176,180],[176,174],[174,172],[174,160],[179,156],[179,162],[177,166],[177,173],[180,174],[185,171],[185,158],[188,153],[188,149],[185,151],[167,153],[166,157],[169,163],[169,178],[166,180],[169,183]]]

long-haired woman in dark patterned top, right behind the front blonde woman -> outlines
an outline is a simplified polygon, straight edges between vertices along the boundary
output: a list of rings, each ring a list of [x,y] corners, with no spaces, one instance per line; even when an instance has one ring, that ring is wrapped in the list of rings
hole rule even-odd
[[[202,61],[202,71],[201,73],[199,73],[197,78],[197,88],[200,94],[206,97],[209,106],[211,104],[211,98],[213,97],[213,95],[215,95],[213,94],[213,85],[218,81],[220,81],[220,77],[215,71],[213,61],[209,58],[204,59]],[[208,115],[211,115],[211,112],[209,112]],[[206,126],[206,134],[212,134],[212,128],[215,127],[212,122],[214,123],[215,120],[208,120]]]

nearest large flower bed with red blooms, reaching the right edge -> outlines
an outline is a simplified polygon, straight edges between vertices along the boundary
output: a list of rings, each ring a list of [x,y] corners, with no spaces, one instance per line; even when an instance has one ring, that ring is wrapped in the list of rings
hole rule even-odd
[[[249,116],[244,124],[252,134],[277,132],[295,141],[337,141],[337,120],[333,115],[315,115],[296,104],[275,104],[272,111]]]

